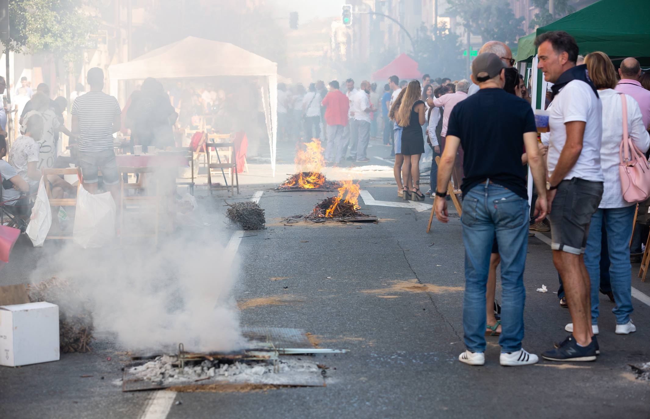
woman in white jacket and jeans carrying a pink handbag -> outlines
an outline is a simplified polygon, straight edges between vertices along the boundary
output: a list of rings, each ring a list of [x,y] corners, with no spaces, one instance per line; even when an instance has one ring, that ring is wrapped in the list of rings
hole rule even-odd
[[[631,96],[614,90],[616,72],[609,57],[595,52],[587,55],[584,62],[603,104],[601,166],[605,178],[603,199],[591,217],[584,253],[584,264],[591,280],[591,325],[597,335],[601,235],[606,231],[608,250],[603,257],[608,256],[610,260],[610,281],[616,300],[612,310],[616,316],[616,333],[627,335],[636,331],[630,320],[634,310],[630,292],[630,236],[635,204],[650,195],[650,169],[643,156],[650,147],[650,136],[643,127],[638,103]]]

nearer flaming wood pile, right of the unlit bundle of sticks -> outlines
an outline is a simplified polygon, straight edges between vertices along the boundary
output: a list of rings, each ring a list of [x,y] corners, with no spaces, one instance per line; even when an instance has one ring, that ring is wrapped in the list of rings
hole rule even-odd
[[[340,222],[376,221],[376,218],[359,211],[361,208],[359,207],[360,192],[361,189],[358,183],[343,181],[337,196],[323,199],[317,203],[310,214],[292,216],[285,219],[285,222],[291,223],[295,222],[295,220],[311,220],[313,222],[325,222],[326,220]]]

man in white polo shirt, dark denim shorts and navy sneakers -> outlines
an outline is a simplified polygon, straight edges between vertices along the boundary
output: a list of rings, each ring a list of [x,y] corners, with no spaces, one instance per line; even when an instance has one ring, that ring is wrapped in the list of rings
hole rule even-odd
[[[603,107],[586,66],[575,65],[578,45],[571,35],[546,32],[537,37],[535,45],[538,68],[545,80],[553,83],[547,156],[551,248],[573,320],[573,327],[567,329],[572,334],[542,356],[551,361],[594,361],[599,348],[591,329],[584,249],[591,216],[603,196]]]

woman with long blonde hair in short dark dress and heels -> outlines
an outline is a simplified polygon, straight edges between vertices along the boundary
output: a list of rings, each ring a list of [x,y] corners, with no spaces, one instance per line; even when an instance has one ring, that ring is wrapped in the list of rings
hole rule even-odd
[[[402,177],[404,184],[413,181],[410,194],[403,194],[402,199],[413,199],[413,201],[424,201],[424,194],[420,192],[420,157],[424,153],[424,141],[422,138],[422,125],[426,121],[424,116],[424,102],[421,101],[420,82],[411,81],[406,86],[406,93],[402,103],[397,110],[396,121],[402,127],[402,155],[404,155],[404,166]]]

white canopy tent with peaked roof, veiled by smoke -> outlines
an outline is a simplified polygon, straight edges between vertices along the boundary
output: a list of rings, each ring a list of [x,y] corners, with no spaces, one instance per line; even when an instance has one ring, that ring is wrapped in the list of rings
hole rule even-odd
[[[188,36],[154,49],[135,60],[109,67],[110,94],[117,96],[118,81],[181,79],[214,76],[265,77],[261,96],[266,116],[271,170],[276,174],[278,135],[278,64],[227,42]]]

